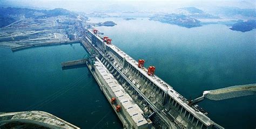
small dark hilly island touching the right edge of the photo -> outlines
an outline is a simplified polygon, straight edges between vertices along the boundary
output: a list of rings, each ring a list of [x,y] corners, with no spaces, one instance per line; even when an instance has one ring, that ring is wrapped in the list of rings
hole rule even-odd
[[[256,28],[256,20],[248,20],[244,22],[235,23],[234,25],[232,25],[230,30],[247,32],[252,31],[254,28]]]

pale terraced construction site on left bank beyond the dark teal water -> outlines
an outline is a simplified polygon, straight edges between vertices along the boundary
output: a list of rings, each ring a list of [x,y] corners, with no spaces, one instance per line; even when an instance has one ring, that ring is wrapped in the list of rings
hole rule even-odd
[[[82,16],[81,16],[82,17]],[[0,46],[17,49],[77,42],[84,31],[83,18],[56,16],[22,18],[0,28]]]

